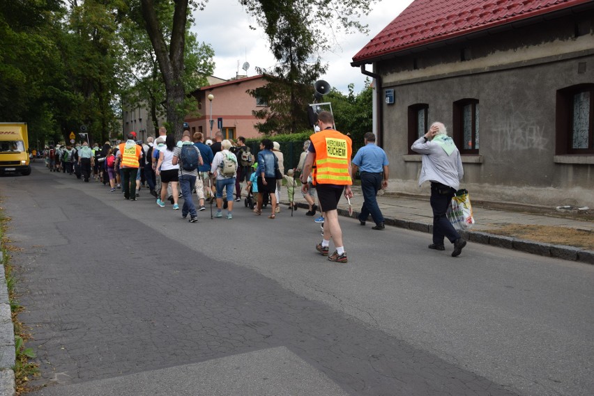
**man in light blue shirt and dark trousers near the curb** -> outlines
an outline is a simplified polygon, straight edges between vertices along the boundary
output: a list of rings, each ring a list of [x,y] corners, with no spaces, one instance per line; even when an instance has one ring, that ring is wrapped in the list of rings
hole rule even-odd
[[[358,216],[361,225],[365,225],[367,217],[371,214],[375,223],[374,230],[383,230],[383,214],[377,205],[377,191],[388,187],[388,157],[382,148],[375,145],[375,135],[367,132],[364,136],[365,146],[360,148],[352,162],[355,180],[357,169],[361,177],[361,190],[363,191],[363,206]],[[383,179],[383,180],[382,180]]]

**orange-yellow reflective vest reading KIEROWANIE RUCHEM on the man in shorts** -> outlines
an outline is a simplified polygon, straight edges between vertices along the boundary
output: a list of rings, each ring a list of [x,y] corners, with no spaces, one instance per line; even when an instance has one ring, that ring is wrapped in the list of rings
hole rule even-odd
[[[349,136],[334,129],[325,129],[310,136],[316,150],[314,184],[353,184],[349,169],[352,142]]]

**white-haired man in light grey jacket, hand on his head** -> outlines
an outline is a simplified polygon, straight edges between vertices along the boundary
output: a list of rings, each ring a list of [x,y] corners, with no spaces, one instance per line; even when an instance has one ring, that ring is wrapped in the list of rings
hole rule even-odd
[[[452,226],[446,212],[452,197],[459,188],[459,181],[464,176],[460,152],[452,138],[448,136],[446,126],[434,122],[429,131],[418,138],[411,150],[422,154],[422,168],[419,186],[431,182],[431,208],[433,209],[433,243],[430,249],[445,250],[443,239],[447,237],[454,244],[452,257],[462,253],[466,241]]]

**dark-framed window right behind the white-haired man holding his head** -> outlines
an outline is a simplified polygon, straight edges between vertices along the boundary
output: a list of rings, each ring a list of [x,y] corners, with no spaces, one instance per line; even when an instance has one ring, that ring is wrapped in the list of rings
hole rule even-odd
[[[460,154],[478,154],[478,100],[462,99],[454,102],[453,138]]]

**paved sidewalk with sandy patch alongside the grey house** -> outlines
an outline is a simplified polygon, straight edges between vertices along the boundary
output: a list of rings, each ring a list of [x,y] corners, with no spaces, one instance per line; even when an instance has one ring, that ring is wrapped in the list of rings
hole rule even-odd
[[[307,203],[299,191],[295,193],[295,199],[300,208],[307,208]],[[359,214],[360,207],[363,204],[363,194],[360,187],[353,186],[353,218]],[[377,198],[379,207],[385,217],[386,225],[393,225],[410,230],[432,232],[433,214],[429,205],[429,197],[402,197],[393,193],[384,193]],[[281,204],[287,205],[287,189],[282,188]],[[286,209],[285,209],[286,210]],[[338,205],[338,211],[341,216],[349,216],[349,205],[347,200],[342,199]],[[533,212],[532,210],[530,212]],[[305,212],[298,210],[294,215],[304,216]],[[489,244],[502,248],[515,249],[526,253],[533,253],[563,260],[573,260],[594,264],[594,221],[579,221],[563,216],[546,216],[545,214],[534,214],[524,212],[511,212],[499,209],[484,209],[479,205],[473,206],[473,216],[475,225],[469,231],[462,232],[462,236],[474,243]],[[369,220],[368,222],[373,223]],[[576,230],[586,235],[586,244],[582,246],[569,246],[569,244],[549,244],[535,240],[529,235],[524,237],[508,237],[497,235],[495,232],[505,233],[504,228],[510,225],[540,226],[547,228],[549,232],[567,233],[570,230]],[[427,239],[429,241],[429,239]],[[429,242],[427,242],[429,243]]]

